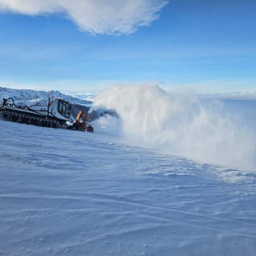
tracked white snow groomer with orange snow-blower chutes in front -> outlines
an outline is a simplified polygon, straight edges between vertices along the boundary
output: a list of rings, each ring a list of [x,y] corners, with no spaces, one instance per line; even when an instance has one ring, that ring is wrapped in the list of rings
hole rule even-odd
[[[0,104],[0,118],[11,122],[26,123],[34,126],[52,128],[67,128],[70,130],[86,130],[93,132],[94,128],[87,123],[89,114],[82,118],[78,113],[73,123],[67,124],[71,114],[71,104],[61,98],[54,99],[46,106],[17,106],[13,98],[4,98]]]

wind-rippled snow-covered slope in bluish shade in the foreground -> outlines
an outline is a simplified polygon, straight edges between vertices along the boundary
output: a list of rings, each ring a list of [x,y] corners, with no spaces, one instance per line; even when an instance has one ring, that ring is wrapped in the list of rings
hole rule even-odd
[[[247,255],[255,174],[0,121],[0,255]]]

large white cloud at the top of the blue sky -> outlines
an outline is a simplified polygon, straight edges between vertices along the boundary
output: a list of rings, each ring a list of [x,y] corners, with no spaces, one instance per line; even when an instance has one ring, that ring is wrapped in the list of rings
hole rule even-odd
[[[130,34],[158,18],[166,0],[0,0],[0,11],[62,13],[91,34]]]

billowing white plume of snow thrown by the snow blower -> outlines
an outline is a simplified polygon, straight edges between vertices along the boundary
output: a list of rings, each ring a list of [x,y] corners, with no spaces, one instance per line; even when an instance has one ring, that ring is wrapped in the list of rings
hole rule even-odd
[[[122,86],[100,94],[122,119],[122,138],[146,146],[242,170],[255,170],[255,138],[223,112],[221,102],[196,94],[170,94],[158,86]]]

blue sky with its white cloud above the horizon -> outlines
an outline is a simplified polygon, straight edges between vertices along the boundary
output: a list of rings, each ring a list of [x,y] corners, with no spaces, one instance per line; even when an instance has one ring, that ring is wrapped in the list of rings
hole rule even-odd
[[[0,0],[0,86],[127,84],[256,90],[256,1]]]

